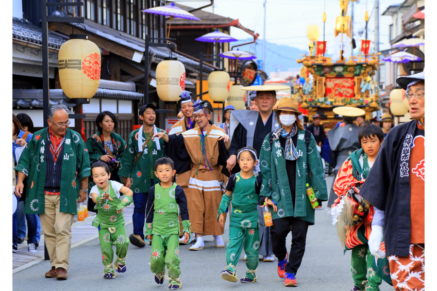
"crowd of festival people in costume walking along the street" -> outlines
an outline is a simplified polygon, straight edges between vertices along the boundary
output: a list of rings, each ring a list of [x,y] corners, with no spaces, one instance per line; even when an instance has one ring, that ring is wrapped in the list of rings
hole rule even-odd
[[[68,128],[65,105],[51,106],[49,126],[36,132],[28,115],[12,114],[12,251],[27,222],[28,251],[36,252],[42,227],[51,264],[45,276],[67,279],[77,202],[88,198],[88,209],[97,213],[92,225],[104,278],[127,271],[129,242],[151,244],[155,282],[168,278],[169,290],[180,289],[180,245],[201,251],[204,236],[212,235],[215,246],[224,247],[229,216],[221,277],[238,281],[244,247],[248,270],[241,283],[257,281],[258,256],[264,262],[275,256],[285,286],[297,286],[308,227],[328,201],[325,175],[334,171],[328,206],[345,251],[352,250],[352,290],[379,290],[383,279],[396,290],[424,290],[424,73],[398,83],[413,121],[392,129],[389,114],[370,124],[361,109],[340,107],[334,112],[343,122],[327,135],[320,115],[306,127],[295,98],[278,102],[275,86],[263,85],[248,88],[251,110],[227,106],[219,126],[212,104],[188,91],[168,133],[155,125],[155,106],[143,105],[142,125],[127,141],[114,132],[117,117],[108,111],[98,115],[98,131],[86,141]],[[127,236],[123,210],[131,203]]]

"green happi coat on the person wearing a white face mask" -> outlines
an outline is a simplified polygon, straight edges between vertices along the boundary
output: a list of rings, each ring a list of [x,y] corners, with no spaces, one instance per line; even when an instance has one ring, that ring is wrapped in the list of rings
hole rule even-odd
[[[273,219],[291,216],[314,224],[315,211],[306,195],[305,184],[308,183],[313,187],[317,199],[326,201],[328,200],[326,178],[313,135],[310,135],[307,146],[305,130],[299,130],[297,134],[295,147],[299,158],[296,160],[296,205],[293,207],[284,150],[279,139],[274,140],[274,136],[270,144],[270,134],[266,136],[261,146],[259,160],[263,184],[260,195],[268,196],[277,203],[278,211],[272,211]]]

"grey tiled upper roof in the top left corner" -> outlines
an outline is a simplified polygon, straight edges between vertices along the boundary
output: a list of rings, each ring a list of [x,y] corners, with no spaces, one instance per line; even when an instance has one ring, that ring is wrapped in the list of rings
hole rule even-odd
[[[28,41],[37,45],[41,45],[42,33],[41,28],[33,25],[26,19],[12,17],[12,38]],[[49,31],[49,47],[59,49],[63,43],[68,40],[68,37],[63,38]]]

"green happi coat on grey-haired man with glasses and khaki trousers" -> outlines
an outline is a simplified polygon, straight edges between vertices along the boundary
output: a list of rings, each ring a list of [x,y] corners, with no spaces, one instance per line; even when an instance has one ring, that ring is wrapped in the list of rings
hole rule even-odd
[[[45,145],[49,128],[38,130],[21,154],[15,170],[29,178],[24,213],[44,214],[44,184],[46,180]],[[50,154],[50,153],[49,153]],[[76,199],[81,181],[90,175],[88,149],[81,135],[67,129],[62,157],[61,195],[59,211],[77,213]]]

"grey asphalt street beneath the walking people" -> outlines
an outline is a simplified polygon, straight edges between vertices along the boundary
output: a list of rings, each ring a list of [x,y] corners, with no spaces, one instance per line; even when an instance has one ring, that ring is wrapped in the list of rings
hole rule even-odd
[[[327,177],[328,189],[332,177]],[[306,250],[302,265],[297,273],[298,290],[301,291],[347,291],[353,288],[350,271],[351,252],[343,255],[336,235],[335,226],[331,224],[328,208],[316,211],[316,224],[308,229]],[[126,226],[127,234],[132,233],[132,224]],[[97,234],[97,229],[96,229]],[[222,238],[228,241],[229,226],[225,227]],[[287,237],[291,245],[291,233]],[[182,289],[198,290],[286,290],[284,280],[277,275],[277,262],[263,262],[258,266],[258,282],[242,284],[231,283],[220,277],[226,267],[225,248],[217,248],[212,236],[205,237],[202,251],[189,251],[189,245],[181,245],[181,280]],[[115,247],[114,247],[115,249]],[[38,250],[40,251],[40,250]],[[244,250],[243,250],[244,252]],[[115,279],[103,279],[101,249],[99,239],[86,242],[71,249],[70,268],[66,281],[45,278],[50,269],[50,262],[43,261],[12,275],[12,290],[167,290],[168,281],[158,285],[153,279],[149,262],[151,246],[137,248],[129,245],[127,255],[127,272],[118,274]],[[237,267],[238,278],[246,273],[246,264],[241,255]],[[279,288],[279,289],[278,289]],[[381,291],[393,290],[383,281]]]

